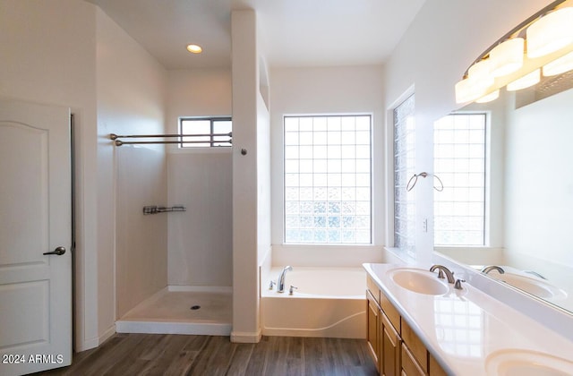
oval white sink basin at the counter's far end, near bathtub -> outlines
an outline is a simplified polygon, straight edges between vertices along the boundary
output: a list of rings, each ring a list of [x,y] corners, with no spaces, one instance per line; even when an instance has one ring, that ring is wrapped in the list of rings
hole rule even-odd
[[[425,295],[444,295],[449,287],[436,273],[428,270],[414,268],[400,268],[389,270],[389,277],[400,287]]]

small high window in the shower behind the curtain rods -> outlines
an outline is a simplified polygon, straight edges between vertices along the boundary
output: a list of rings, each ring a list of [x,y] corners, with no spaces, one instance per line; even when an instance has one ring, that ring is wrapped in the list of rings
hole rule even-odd
[[[179,118],[180,148],[211,148],[232,145],[230,117]]]

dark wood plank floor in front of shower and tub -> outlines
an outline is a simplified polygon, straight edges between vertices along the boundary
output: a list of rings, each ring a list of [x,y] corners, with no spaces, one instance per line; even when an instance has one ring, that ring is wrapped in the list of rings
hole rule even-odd
[[[364,339],[115,334],[74,354],[69,367],[34,375],[377,375]]]

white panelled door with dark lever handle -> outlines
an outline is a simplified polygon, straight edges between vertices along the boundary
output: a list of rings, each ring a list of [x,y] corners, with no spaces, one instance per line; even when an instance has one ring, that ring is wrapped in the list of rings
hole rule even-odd
[[[69,108],[0,100],[0,375],[72,362],[71,181]]]

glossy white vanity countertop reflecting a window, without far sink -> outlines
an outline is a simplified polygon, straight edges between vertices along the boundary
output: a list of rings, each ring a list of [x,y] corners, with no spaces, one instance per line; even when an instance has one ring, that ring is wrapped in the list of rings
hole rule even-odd
[[[573,374],[573,342],[481,290],[463,283],[463,290],[449,285],[444,295],[418,294],[389,277],[389,270],[406,265],[363,267],[446,372],[505,374],[500,361],[517,366],[535,360],[561,372],[551,374]],[[523,375],[532,367],[506,371]],[[540,368],[532,374],[547,372]]]

